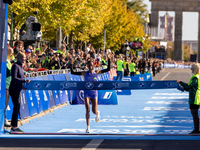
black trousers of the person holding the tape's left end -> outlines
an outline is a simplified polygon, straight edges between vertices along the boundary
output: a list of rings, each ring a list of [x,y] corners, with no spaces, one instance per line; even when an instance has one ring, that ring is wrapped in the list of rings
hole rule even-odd
[[[13,114],[12,114],[12,120],[11,120],[11,126],[17,127],[18,123],[18,115],[20,110],[20,103],[21,103],[21,90],[20,89],[14,89],[9,88],[9,93],[12,98],[13,102]]]

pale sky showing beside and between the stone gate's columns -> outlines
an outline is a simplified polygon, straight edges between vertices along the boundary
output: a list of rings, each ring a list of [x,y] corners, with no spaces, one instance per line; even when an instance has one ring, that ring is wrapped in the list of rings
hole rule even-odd
[[[151,13],[151,2],[143,0],[148,5],[149,13]],[[164,16],[166,12],[159,12],[160,16]],[[174,12],[168,12],[170,16],[175,15]],[[182,40],[197,40],[198,38],[198,13],[183,12],[183,31]]]

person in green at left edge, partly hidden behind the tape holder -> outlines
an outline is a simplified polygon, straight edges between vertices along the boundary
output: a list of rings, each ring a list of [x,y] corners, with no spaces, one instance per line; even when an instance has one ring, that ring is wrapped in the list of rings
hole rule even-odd
[[[10,59],[13,55],[13,49],[11,47],[8,47],[7,49],[7,60],[6,60],[6,100],[5,100],[5,109],[4,109],[4,126],[5,127],[11,127],[10,123],[6,119],[6,109],[8,107],[10,94],[9,94],[9,86],[11,83],[11,68],[12,64],[10,63]]]

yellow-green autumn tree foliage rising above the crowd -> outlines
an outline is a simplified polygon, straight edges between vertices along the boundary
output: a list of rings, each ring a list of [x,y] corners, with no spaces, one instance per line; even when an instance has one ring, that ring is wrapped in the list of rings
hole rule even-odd
[[[95,48],[103,47],[106,30],[106,48],[120,48],[126,40],[143,37],[143,25],[138,14],[127,10],[127,0],[15,0],[9,14],[16,13],[17,29],[27,17],[39,11],[43,40],[56,39],[57,28],[75,41],[91,41]],[[71,41],[73,43],[73,40]],[[147,44],[148,45],[148,44]]]

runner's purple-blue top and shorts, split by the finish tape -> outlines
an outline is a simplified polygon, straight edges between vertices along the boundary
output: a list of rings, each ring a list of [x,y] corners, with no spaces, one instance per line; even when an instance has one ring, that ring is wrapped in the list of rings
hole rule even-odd
[[[85,72],[85,81],[97,81],[97,74],[95,71],[93,73],[89,73],[89,71]],[[96,98],[97,90],[84,90],[84,97]]]

